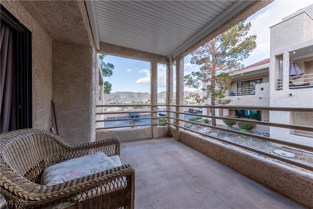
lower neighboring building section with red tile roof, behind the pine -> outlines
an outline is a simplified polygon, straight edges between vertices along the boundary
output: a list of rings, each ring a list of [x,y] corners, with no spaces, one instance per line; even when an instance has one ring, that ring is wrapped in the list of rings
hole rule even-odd
[[[229,74],[233,76],[229,90],[225,93],[225,99],[231,99],[227,105],[231,106],[269,106],[269,59],[262,60],[240,70],[234,70]],[[203,84],[207,88],[210,84]],[[206,114],[207,110],[203,110]],[[260,121],[269,120],[269,111],[259,110],[227,110],[216,109],[216,116],[238,116],[255,118]],[[217,124],[225,125],[222,120]],[[268,126],[258,125],[254,130],[269,133]]]

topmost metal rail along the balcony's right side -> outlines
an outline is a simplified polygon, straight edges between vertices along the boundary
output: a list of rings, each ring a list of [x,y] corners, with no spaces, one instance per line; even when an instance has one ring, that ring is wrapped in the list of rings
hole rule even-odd
[[[210,105],[165,105],[170,107],[194,107],[194,108],[217,108],[217,109],[236,109],[236,110],[270,110],[282,112],[313,112],[313,108],[306,107],[258,107],[258,106],[210,106]],[[163,111],[165,112],[165,111]]]

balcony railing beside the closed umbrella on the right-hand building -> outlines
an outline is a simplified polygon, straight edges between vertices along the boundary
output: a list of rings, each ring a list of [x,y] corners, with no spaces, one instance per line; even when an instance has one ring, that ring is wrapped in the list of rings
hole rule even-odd
[[[289,77],[289,89],[313,88],[313,73]],[[277,79],[276,90],[283,90],[283,78]]]

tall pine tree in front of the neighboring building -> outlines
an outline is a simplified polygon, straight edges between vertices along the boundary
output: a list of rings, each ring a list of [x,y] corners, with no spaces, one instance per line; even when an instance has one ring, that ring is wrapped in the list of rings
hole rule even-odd
[[[240,61],[247,58],[256,47],[256,35],[247,36],[250,27],[251,23],[238,23],[193,51],[190,62],[201,67],[199,71],[184,77],[185,86],[200,88],[202,82],[211,82],[210,89],[202,89],[211,91],[211,105],[229,103],[230,100],[223,99],[232,79],[226,72],[242,68]],[[211,115],[215,116],[214,108]],[[212,118],[212,125],[216,126],[215,118]]]

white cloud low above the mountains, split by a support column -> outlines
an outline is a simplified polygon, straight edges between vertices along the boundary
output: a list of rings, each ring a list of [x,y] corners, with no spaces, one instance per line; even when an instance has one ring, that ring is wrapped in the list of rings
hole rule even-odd
[[[144,69],[144,70],[139,70],[138,72],[144,74],[144,76],[136,80],[135,83],[150,86],[150,70]],[[157,87],[158,88],[166,87],[166,66],[165,65],[157,66]]]

